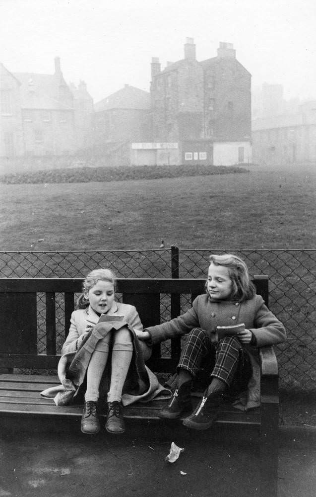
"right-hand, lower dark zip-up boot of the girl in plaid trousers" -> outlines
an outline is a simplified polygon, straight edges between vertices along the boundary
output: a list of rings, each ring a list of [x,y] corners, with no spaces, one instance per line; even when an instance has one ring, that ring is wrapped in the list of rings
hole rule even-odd
[[[205,391],[201,402],[193,413],[183,420],[183,424],[194,430],[207,430],[217,419],[223,401],[223,392],[214,392],[207,397]]]

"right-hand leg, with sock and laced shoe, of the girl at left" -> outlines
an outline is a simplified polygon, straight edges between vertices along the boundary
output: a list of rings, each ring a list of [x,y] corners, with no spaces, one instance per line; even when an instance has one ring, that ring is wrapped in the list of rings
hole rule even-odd
[[[106,429],[111,433],[124,433],[122,414],[122,391],[133,355],[131,333],[128,328],[115,332],[112,347],[111,384],[108,393],[108,416]]]

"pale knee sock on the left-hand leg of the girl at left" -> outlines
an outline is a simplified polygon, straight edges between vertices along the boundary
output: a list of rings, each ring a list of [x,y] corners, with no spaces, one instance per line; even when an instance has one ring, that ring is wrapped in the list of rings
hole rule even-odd
[[[109,356],[109,344],[100,340],[91,355],[87,369],[87,390],[84,395],[85,402],[99,399],[99,386]]]

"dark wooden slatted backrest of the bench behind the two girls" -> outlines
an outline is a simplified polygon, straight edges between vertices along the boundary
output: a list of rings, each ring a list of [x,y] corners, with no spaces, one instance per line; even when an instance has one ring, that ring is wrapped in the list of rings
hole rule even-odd
[[[56,368],[56,295],[63,295],[64,338],[74,310],[74,294],[81,292],[82,279],[0,278],[2,316],[0,324],[0,368]],[[204,293],[205,279],[119,278],[122,302],[136,307],[145,327],[161,322],[161,302],[170,295],[170,318],[182,313],[181,296],[190,302]],[[268,277],[254,276],[256,291],[268,306]],[[45,295],[46,354],[38,353],[38,294]],[[59,304],[60,305],[60,304]],[[161,358],[160,344],[154,347],[149,366],[154,371],[172,371],[180,356],[180,338],[171,341],[171,354]]]

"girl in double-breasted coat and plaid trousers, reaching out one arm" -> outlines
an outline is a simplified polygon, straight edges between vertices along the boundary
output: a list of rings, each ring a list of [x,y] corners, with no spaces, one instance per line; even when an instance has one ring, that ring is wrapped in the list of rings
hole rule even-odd
[[[211,255],[206,293],[199,295],[192,308],[184,315],[167,323],[144,330],[140,339],[151,344],[188,334],[177,368],[178,386],[168,406],[160,417],[175,419],[187,414],[183,424],[203,430],[216,419],[225,392],[236,380],[237,374],[251,364],[252,374],[248,383],[248,406],[259,401],[258,350],[263,345],[273,345],[285,340],[282,323],[256,295],[245,262],[235,255]],[[235,335],[225,335],[218,340],[220,328],[241,325]],[[201,368],[203,360],[211,356],[212,367],[209,385],[193,413],[191,383]],[[191,414],[190,414],[191,413]],[[189,415],[188,415],[189,414]]]

